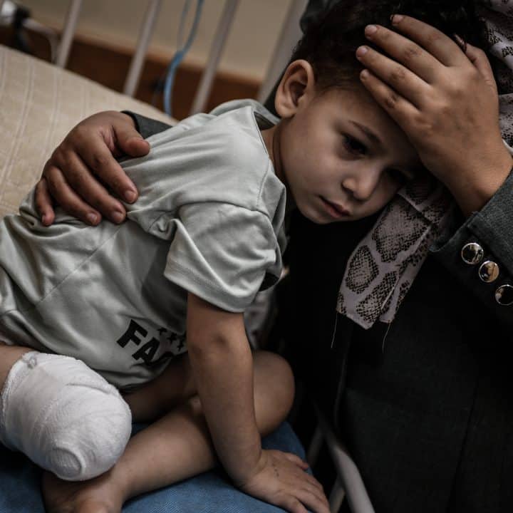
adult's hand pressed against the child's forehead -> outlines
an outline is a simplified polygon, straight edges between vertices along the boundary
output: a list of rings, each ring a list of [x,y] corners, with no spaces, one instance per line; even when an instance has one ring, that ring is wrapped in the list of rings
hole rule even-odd
[[[391,58],[358,48],[356,56],[367,68],[363,86],[405,131],[463,212],[480,209],[512,167],[487,57],[470,45],[464,53],[445,34],[409,16],[396,15],[393,26],[400,33],[366,28],[366,37]]]

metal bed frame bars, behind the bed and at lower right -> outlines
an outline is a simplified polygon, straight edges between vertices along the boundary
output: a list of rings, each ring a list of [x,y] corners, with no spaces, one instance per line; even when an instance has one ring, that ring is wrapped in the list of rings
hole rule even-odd
[[[73,36],[76,32],[76,24],[82,7],[83,0],[70,0],[66,22],[61,35],[61,41],[56,54],[56,66],[64,68],[68,61],[69,52],[73,43]],[[217,31],[212,42],[212,49],[209,53],[207,65],[202,73],[197,93],[192,105],[192,113],[204,110],[209,97],[212,83],[219,60],[227,41],[229,30],[232,27],[234,16],[239,6],[240,0],[225,0],[221,19],[217,26]],[[294,47],[301,36],[299,28],[299,19],[304,12],[308,0],[291,0],[289,12],[286,16],[284,26],[281,28],[279,40],[276,43],[274,54],[271,58],[271,65],[266,73],[264,82],[259,90],[258,99],[263,102],[276,81],[281,76],[286,67]],[[0,12],[4,0],[0,0]],[[162,0],[148,0],[145,18],[142,20],[138,46],[130,63],[130,69],[125,79],[123,93],[133,96],[138,86],[142,66],[144,65],[147,48],[155,28],[155,22],[162,6]],[[356,468],[353,460],[348,455],[346,449],[338,437],[334,434],[330,424],[316,405],[314,411],[317,418],[317,427],[312,437],[307,452],[307,460],[310,465],[314,465],[323,443],[326,443],[328,452],[335,466],[337,477],[329,494],[331,513],[337,513],[341,507],[343,499],[347,497],[348,506],[353,513],[374,513],[373,506],[366,492],[366,488],[361,479],[361,475]]]

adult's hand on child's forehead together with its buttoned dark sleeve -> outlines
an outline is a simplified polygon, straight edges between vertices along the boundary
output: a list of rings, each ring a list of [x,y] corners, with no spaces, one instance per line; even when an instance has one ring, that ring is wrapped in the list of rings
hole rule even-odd
[[[395,16],[392,24],[395,30],[366,28],[366,37],[392,58],[358,48],[367,68],[363,86],[403,128],[467,218],[437,242],[435,257],[513,325],[513,306],[504,305],[513,304],[513,160],[499,130],[492,68],[483,51],[471,45],[462,51],[422,21]],[[465,256],[469,243],[479,244],[483,254]]]

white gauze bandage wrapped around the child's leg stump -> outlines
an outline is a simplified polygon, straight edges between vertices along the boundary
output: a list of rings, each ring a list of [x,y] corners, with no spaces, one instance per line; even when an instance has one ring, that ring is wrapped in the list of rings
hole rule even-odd
[[[0,395],[0,441],[68,481],[113,467],[130,438],[130,408],[85,363],[31,351]]]

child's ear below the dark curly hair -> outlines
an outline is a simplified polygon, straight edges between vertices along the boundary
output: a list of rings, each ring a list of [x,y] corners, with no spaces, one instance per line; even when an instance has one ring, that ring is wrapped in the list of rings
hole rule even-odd
[[[291,62],[276,90],[276,113],[281,118],[291,118],[299,106],[308,101],[314,93],[315,76],[311,64],[303,59]]]

